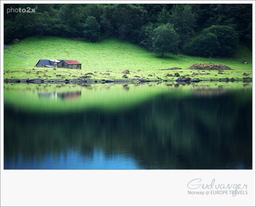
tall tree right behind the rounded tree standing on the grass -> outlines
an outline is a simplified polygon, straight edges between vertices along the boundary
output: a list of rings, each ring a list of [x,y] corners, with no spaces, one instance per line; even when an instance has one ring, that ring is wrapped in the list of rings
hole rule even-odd
[[[171,23],[180,36],[180,50],[182,51],[185,42],[194,34],[195,14],[189,4],[176,4],[171,13]]]

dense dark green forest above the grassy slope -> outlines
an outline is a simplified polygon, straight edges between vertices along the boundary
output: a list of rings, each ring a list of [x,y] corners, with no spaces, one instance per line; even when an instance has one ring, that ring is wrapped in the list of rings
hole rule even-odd
[[[252,49],[252,4],[4,4],[4,43],[29,36],[116,37],[162,57],[231,57],[239,43]]]

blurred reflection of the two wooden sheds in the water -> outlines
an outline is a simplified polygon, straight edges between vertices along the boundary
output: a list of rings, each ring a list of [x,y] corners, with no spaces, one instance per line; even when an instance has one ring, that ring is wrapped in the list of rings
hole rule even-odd
[[[81,97],[81,91],[73,92],[50,92],[50,93],[38,93],[39,98],[61,98],[61,99],[77,99]]]

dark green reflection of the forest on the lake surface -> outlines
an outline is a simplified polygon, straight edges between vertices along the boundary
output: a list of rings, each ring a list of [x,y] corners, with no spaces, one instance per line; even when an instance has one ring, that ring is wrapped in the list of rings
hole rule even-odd
[[[173,100],[163,95],[116,114],[31,117],[6,108],[4,155],[40,157],[72,146],[84,156],[92,157],[95,148],[132,156],[146,168],[221,169],[252,162],[251,114],[251,101],[241,106],[231,96]]]

